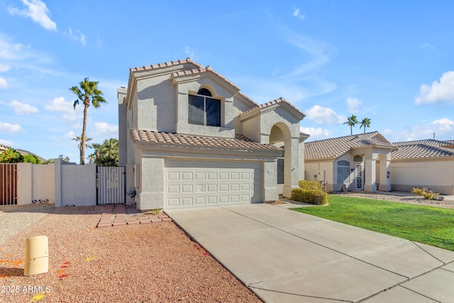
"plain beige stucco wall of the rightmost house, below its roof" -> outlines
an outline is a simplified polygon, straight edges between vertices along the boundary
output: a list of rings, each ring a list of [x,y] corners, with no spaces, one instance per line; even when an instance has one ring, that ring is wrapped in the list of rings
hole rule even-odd
[[[411,191],[413,187],[428,187],[441,194],[454,194],[454,160],[392,160],[390,165],[392,190]]]

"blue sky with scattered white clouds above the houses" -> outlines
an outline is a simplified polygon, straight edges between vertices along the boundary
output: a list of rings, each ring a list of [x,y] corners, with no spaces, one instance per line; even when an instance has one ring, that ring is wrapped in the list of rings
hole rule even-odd
[[[99,81],[109,104],[89,108],[87,136],[101,143],[118,138],[129,68],[187,57],[259,104],[290,101],[308,141],[350,135],[352,114],[391,142],[452,140],[453,11],[443,0],[0,0],[0,144],[79,162],[70,87]]]

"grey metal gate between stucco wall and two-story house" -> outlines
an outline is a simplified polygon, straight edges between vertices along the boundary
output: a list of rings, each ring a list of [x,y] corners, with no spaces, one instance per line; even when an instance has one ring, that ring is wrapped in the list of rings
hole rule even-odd
[[[124,166],[96,167],[96,204],[123,204],[126,201],[126,168]]]

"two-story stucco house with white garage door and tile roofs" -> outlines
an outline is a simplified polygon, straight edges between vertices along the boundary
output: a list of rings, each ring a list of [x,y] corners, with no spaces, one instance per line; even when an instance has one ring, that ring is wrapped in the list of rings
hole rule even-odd
[[[119,164],[139,209],[274,201],[304,179],[303,118],[282,98],[256,104],[190,58],[136,67],[118,89]]]

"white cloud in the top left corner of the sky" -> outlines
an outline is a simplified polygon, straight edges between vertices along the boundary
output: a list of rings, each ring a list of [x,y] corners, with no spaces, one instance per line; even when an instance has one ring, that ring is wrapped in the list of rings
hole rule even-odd
[[[57,31],[57,24],[50,20],[48,13],[50,13],[45,3],[41,0],[21,0],[27,6],[26,9],[17,9],[16,7],[9,6],[8,12],[11,15],[19,15],[30,17],[33,21],[38,23],[43,28],[49,31]]]

